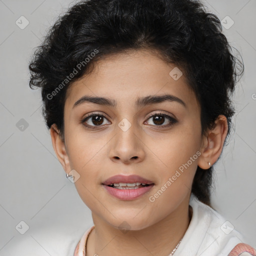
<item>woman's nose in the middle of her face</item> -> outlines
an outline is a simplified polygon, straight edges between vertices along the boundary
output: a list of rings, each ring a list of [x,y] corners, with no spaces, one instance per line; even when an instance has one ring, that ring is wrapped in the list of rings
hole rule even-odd
[[[109,158],[114,162],[125,164],[137,163],[144,159],[144,143],[140,134],[132,126],[123,131],[117,127],[116,134],[109,144]]]

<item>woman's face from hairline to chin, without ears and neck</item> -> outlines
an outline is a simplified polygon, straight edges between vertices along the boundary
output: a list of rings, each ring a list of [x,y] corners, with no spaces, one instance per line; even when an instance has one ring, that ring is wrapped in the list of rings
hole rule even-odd
[[[81,199],[112,226],[126,221],[131,229],[145,228],[189,198],[202,143],[200,106],[184,75],[169,74],[174,67],[150,51],[118,53],[97,61],[68,89],[66,172],[79,174],[74,184]],[[107,100],[78,101],[84,96]],[[153,185],[117,198],[102,184],[116,174],[136,174]]]

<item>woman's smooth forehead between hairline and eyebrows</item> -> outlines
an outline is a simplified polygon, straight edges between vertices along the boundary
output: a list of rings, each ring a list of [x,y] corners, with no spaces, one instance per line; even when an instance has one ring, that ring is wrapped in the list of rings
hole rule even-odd
[[[65,105],[72,107],[83,95],[112,98],[116,106],[120,101],[130,104],[138,97],[167,93],[187,102],[196,100],[181,70],[177,80],[172,70],[179,72],[175,64],[166,63],[157,52],[116,53],[94,62],[91,73],[69,85]]]

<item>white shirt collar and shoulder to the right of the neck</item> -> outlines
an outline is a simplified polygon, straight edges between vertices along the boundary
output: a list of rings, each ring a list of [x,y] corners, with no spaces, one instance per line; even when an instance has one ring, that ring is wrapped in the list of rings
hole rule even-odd
[[[236,244],[244,242],[228,220],[193,194],[189,204],[192,218],[175,256],[227,256]]]

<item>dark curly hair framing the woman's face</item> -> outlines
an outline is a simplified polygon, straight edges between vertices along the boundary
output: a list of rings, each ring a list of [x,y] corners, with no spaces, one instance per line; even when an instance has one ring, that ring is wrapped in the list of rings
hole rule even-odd
[[[201,134],[223,114],[229,135],[230,96],[243,62],[232,54],[220,20],[198,0],[83,0],[59,15],[29,63],[29,86],[41,88],[47,127],[55,123],[64,139],[68,86],[97,59],[139,49],[157,52],[184,72],[201,106]],[[197,166],[191,192],[210,206],[211,187],[212,166]]]

